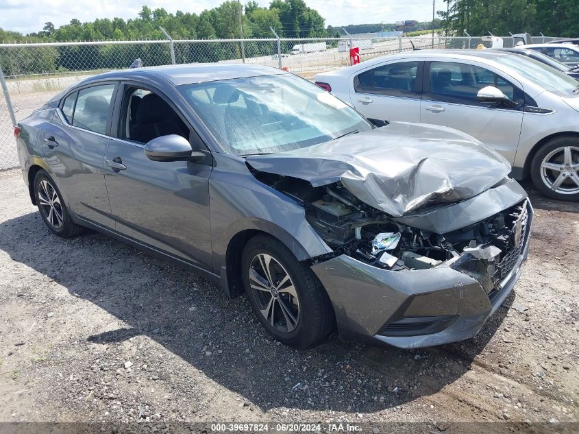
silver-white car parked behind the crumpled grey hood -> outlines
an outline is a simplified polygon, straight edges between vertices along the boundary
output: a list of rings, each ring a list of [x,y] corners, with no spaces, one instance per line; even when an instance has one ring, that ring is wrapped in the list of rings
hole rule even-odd
[[[546,64],[505,51],[419,50],[320,73],[315,82],[377,125],[466,132],[502,154],[513,178],[530,176],[545,195],[579,201],[579,86]]]

